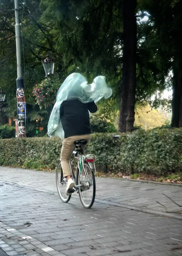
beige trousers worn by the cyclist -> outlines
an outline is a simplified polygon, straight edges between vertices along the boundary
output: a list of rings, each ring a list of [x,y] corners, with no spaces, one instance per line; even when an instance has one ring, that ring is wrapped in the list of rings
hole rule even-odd
[[[63,140],[63,145],[61,148],[61,167],[63,169],[64,177],[69,175],[72,176],[71,168],[69,165],[69,158],[75,149],[74,142],[78,140],[87,140],[89,142],[90,137],[91,137],[91,134],[87,134],[87,135],[71,136]],[[82,146],[83,155],[85,154],[86,146],[87,145]]]

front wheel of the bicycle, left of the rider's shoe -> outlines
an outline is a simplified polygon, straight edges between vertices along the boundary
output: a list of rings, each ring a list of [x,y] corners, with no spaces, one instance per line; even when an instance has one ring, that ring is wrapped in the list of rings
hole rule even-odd
[[[56,168],[56,187],[59,197],[64,203],[67,203],[71,195],[66,195],[66,186],[67,186],[67,179],[63,177],[63,170],[61,168],[61,162],[57,165]]]

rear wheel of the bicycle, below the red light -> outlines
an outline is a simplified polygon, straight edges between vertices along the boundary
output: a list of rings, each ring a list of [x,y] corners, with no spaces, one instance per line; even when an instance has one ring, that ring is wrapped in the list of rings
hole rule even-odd
[[[95,200],[95,175],[91,171],[89,165],[84,163],[84,168],[82,168],[82,173],[77,173],[78,189],[80,201],[85,208],[91,208]]]

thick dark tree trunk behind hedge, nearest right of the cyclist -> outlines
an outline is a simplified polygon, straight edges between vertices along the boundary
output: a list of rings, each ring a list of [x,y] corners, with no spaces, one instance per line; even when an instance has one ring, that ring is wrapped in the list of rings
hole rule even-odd
[[[134,130],[134,104],[136,89],[137,0],[123,0],[123,66],[119,132]]]

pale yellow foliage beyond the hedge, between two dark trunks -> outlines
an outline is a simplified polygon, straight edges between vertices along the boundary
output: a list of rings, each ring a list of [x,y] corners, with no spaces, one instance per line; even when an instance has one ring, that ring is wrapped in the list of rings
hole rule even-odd
[[[149,105],[137,109],[135,114],[135,125],[145,130],[161,127],[166,122],[163,112],[152,110]]]

